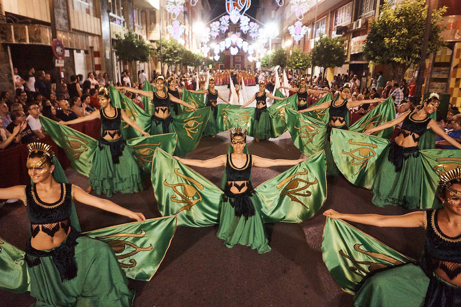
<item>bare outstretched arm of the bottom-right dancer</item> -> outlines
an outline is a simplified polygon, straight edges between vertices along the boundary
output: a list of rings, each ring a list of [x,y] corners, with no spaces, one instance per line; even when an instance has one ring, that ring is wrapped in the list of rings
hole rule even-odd
[[[328,209],[323,215],[334,218],[344,219],[351,222],[367,224],[377,227],[424,227],[424,211],[416,211],[404,215],[381,215],[381,214],[346,214],[339,213],[333,209]]]

